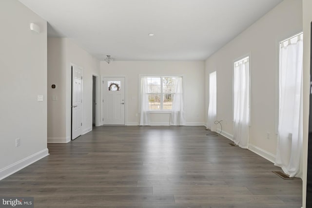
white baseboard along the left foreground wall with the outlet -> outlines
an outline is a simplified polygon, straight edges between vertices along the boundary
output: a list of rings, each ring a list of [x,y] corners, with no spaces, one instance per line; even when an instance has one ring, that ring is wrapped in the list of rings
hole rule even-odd
[[[13,163],[12,165],[9,165],[5,168],[2,168],[0,170],[0,180],[2,180],[3,178],[8,177],[9,175],[12,175],[13,173],[29,166],[30,164],[42,159],[45,156],[49,155],[49,150],[48,149],[44,149],[42,151],[39,151],[35,154],[32,154],[16,163]]]

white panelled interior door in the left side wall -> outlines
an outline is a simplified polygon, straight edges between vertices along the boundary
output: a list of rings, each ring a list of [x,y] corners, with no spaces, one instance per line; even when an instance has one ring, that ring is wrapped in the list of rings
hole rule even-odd
[[[82,133],[82,70],[72,66],[72,139]]]

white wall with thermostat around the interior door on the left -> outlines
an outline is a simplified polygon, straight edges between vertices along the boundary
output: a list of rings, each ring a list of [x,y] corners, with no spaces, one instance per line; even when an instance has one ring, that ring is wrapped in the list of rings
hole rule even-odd
[[[92,76],[99,77],[99,61],[72,39],[48,38],[48,142],[70,141],[71,64],[83,70],[82,134],[92,130]]]

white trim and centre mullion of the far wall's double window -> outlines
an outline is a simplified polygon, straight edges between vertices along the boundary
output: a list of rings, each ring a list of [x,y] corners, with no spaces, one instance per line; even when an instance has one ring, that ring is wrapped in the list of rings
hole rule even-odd
[[[184,80],[184,76],[183,75],[164,75],[164,74],[153,74],[153,75],[144,75],[144,74],[140,74],[138,75],[138,101],[139,101],[139,105],[138,105],[138,113],[140,113],[140,109],[141,109],[141,78],[142,77],[182,77],[182,80]],[[162,83],[162,81],[161,81]],[[182,82],[182,87],[184,89],[184,81]],[[162,84],[161,84],[161,92],[162,92]],[[163,94],[163,93],[161,93]],[[161,96],[161,103],[160,105],[163,105],[163,98]],[[149,113],[171,113],[172,110],[149,110]]]

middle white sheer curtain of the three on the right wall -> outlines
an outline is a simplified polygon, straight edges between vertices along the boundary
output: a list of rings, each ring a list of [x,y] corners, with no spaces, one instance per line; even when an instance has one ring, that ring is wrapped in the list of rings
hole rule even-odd
[[[234,63],[234,142],[249,144],[249,57]]]

